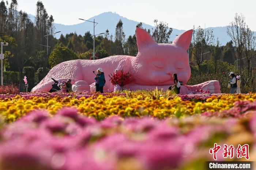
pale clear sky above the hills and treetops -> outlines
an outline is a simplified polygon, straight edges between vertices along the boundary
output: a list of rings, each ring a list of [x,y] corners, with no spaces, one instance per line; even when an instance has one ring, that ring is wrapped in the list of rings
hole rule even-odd
[[[18,8],[35,15],[36,3],[37,0],[18,0]],[[81,23],[78,18],[88,19],[111,11],[151,25],[158,19],[170,27],[188,30],[193,25],[226,26],[238,12],[256,31],[256,0],[42,0],[42,3],[55,23],[65,25]]]

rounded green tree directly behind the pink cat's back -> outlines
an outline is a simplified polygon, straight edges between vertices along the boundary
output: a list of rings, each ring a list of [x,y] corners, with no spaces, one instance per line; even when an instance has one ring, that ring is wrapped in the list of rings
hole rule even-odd
[[[61,62],[74,59],[78,59],[78,57],[72,50],[69,50],[67,47],[57,47],[50,54],[49,64],[52,68]]]

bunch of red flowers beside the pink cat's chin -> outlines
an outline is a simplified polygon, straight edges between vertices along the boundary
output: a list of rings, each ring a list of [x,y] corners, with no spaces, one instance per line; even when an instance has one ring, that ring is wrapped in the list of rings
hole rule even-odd
[[[126,84],[129,84],[132,80],[132,75],[130,72],[125,73],[124,70],[116,70],[116,73],[113,73],[109,75],[111,83],[113,85],[120,85],[124,86]]]

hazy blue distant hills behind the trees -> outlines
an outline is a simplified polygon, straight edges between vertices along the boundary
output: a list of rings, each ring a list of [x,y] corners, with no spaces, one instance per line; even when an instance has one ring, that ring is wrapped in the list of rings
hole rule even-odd
[[[32,21],[35,20],[35,16],[33,16],[31,14],[29,14],[29,16]],[[90,20],[90,21],[93,21],[93,19],[95,19],[95,22],[99,23],[95,27],[95,34],[105,32],[106,29],[108,29],[109,35],[112,34],[113,37],[115,34],[116,24],[118,23],[118,21],[120,19],[123,21],[124,33],[127,37],[129,35],[135,34],[136,25],[139,22],[142,22],[142,21],[138,22],[138,21],[127,19],[127,18],[120,16],[117,13],[113,13],[113,12],[104,12],[104,13],[101,13],[92,18],[89,18],[89,19],[83,18],[83,19]],[[56,28],[56,31],[61,31],[61,33],[63,35],[69,34],[71,32],[76,32],[76,34],[84,35],[84,33],[86,31],[90,31],[93,34],[93,23],[90,23],[90,22],[83,22],[83,23],[75,24],[75,25],[63,25],[63,24],[54,23],[54,26]],[[151,26],[146,23],[143,23],[142,26],[143,26],[143,28],[147,28],[150,30],[152,30],[152,28],[154,28],[154,26]],[[213,29],[214,36],[216,39],[217,39],[217,37],[219,38],[221,45],[226,45],[226,43],[231,40],[230,37],[226,33],[227,27],[209,27],[209,28]],[[177,30],[177,29],[173,28],[173,32],[170,36],[170,40],[173,40],[176,37],[176,35],[179,35],[184,31],[185,30]],[[255,32],[255,35],[256,35],[256,32]],[[56,38],[59,38],[59,37],[60,37],[60,34],[56,34]]]

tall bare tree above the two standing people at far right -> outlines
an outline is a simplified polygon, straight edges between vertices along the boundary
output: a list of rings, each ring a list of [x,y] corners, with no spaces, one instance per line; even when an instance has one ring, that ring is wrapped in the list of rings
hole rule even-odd
[[[227,26],[227,35],[230,36],[231,40],[234,42],[237,57],[239,59],[239,72],[242,73],[242,47],[243,47],[243,31],[245,30],[245,18],[242,14],[235,14],[234,21],[230,22]]]

